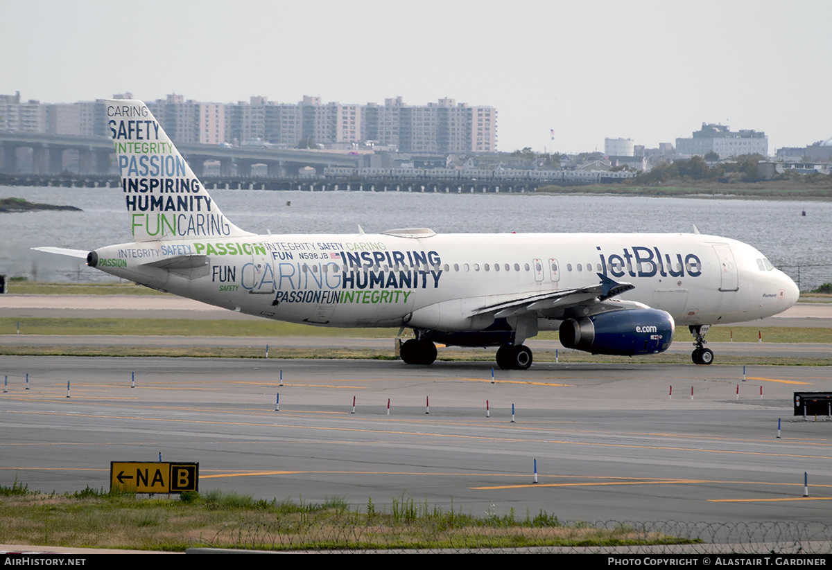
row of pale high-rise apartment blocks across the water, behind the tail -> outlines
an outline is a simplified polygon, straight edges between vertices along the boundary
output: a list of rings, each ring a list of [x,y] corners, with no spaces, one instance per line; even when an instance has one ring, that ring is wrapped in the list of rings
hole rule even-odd
[[[120,93],[116,99],[130,99]],[[304,96],[298,103],[249,101],[216,103],[171,93],[146,101],[176,143],[203,145],[384,145],[423,154],[483,153],[497,150],[497,110],[445,97],[411,106],[401,96],[378,103],[324,103]],[[0,130],[56,135],[106,135],[103,101],[47,104],[21,101],[20,93],[0,96]]]

